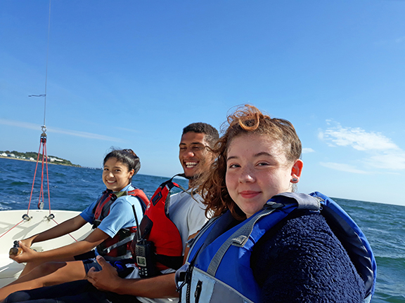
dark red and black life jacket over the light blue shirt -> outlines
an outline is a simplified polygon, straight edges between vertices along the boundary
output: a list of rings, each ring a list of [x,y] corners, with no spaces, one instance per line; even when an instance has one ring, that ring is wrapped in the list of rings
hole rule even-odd
[[[121,196],[134,196],[141,201],[142,213],[145,212],[146,206],[149,204],[148,197],[141,189],[132,191],[124,191]],[[117,200],[116,194],[107,189],[103,191],[103,195],[98,199],[94,207],[94,224],[95,229],[101,221],[110,213],[110,207]],[[136,215],[136,214],[134,214]],[[108,260],[121,260],[131,258],[131,242],[136,235],[136,226],[120,229],[113,238],[107,238],[105,241],[97,245],[97,252],[104,256],[108,256]]]

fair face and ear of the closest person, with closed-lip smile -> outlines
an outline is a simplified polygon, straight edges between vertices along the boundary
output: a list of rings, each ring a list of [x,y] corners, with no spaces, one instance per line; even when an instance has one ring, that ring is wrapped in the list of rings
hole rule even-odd
[[[246,217],[261,210],[272,196],[291,191],[302,161],[287,161],[279,140],[249,134],[233,138],[226,159],[226,188]]]

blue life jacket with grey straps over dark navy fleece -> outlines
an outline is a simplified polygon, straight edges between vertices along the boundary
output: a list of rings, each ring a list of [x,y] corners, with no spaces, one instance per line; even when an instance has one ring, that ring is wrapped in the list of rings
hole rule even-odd
[[[371,247],[349,215],[319,192],[276,195],[262,210],[231,229],[234,219],[229,211],[212,218],[191,243],[186,264],[176,272],[181,302],[259,302],[261,289],[250,268],[252,248],[295,209],[320,211],[326,218],[364,280],[364,302],[370,302],[376,274]]]

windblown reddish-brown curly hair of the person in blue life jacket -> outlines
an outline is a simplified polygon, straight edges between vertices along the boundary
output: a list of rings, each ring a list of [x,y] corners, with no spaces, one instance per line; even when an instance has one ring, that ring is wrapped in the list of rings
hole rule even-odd
[[[200,185],[199,191],[207,205],[206,215],[210,213],[217,216],[230,210],[233,217],[243,220],[246,216],[233,202],[225,182],[226,159],[232,140],[239,135],[249,133],[269,135],[273,140],[279,140],[282,143],[286,159],[290,162],[300,159],[302,145],[290,121],[270,118],[252,105],[236,109],[236,112],[228,116],[227,123],[224,123],[221,129],[224,135],[212,148],[217,159],[205,175],[205,181]]]

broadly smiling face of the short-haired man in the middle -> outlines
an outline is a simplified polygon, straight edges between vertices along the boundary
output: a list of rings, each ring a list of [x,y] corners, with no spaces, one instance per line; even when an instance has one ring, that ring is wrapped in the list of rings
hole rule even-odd
[[[189,179],[198,177],[210,166],[212,153],[207,146],[204,133],[188,132],[181,136],[179,160]]]

